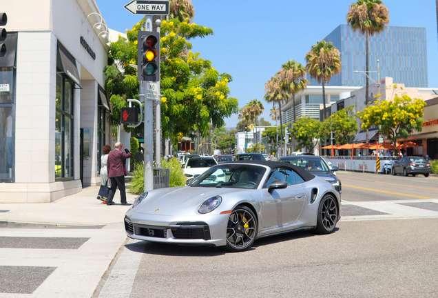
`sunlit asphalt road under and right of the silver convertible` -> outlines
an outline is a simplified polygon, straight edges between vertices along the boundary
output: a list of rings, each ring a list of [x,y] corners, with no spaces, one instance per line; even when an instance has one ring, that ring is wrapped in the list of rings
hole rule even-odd
[[[238,253],[129,240],[94,297],[438,297],[438,179],[337,175],[332,234],[258,239]]]

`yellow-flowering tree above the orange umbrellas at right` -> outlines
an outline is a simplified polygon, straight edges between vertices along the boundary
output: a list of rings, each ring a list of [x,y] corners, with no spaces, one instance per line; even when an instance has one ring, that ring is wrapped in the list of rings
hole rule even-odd
[[[414,131],[421,132],[425,106],[423,99],[395,95],[393,101],[375,101],[374,106],[368,106],[357,115],[362,120],[362,129],[379,127],[379,133],[395,145],[397,139],[404,139]]]

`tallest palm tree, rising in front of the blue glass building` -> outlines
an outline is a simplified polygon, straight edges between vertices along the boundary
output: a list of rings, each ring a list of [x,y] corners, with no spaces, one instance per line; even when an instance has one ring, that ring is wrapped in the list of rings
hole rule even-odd
[[[369,71],[368,36],[382,32],[389,23],[389,12],[380,0],[359,0],[351,3],[346,15],[346,21],[353,31],[360,30],[366,36],[366,74]],[[380,82],[379,82],[380,83]],[[368,77],[366,77],[365,106],[368,106]]]

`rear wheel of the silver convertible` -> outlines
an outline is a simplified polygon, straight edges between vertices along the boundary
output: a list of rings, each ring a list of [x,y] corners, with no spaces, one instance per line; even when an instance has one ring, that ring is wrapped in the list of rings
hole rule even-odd
[[[337,203],[332,195],[325,195],[318,207],[316,231],[320,234],[329,234],[335,230],[339,219]]]

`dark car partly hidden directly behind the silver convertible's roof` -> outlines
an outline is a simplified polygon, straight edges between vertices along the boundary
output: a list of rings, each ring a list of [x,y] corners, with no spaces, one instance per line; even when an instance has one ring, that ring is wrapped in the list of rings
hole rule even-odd
[[[291,163],[294,166],[298,166],[304,170],[311,172],[313,175],[321,177],[322,179],[330,182],[337,192],[342,193],[341,180],[335,175],[335,172],[339,170],[338,167],[329,167],[326,161],[322,157],[313,155],[298,155],[291,157],[280,157],[280,161]]]

